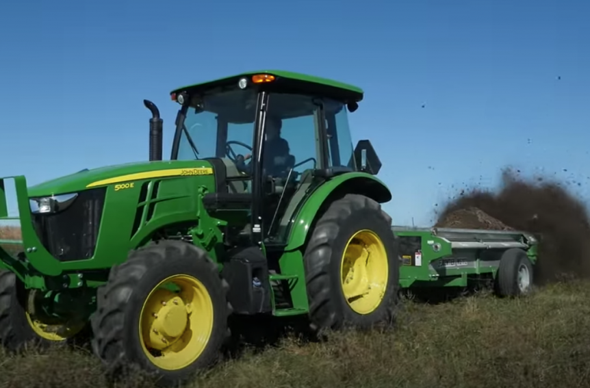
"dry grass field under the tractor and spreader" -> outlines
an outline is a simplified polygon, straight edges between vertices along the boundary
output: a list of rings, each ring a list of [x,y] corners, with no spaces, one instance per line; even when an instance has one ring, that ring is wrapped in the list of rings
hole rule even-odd
[[[191,387],[582,387],[590,379],[590,283],[549,285],[520,300],[407,301],[386,333],[285,339],[220,364]],[[107,387],[83,351],[0,355],[0,386]],[[150,387],[144,379],[119,387]]]

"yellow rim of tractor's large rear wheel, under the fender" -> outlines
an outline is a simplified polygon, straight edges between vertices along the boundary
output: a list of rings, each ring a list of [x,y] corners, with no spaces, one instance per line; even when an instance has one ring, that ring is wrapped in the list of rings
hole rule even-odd
[[[340,266],[342,292],[356,313],[372,313],[385,296],[389,264],[387,251],[378,235],[358,231],[346,244]]]

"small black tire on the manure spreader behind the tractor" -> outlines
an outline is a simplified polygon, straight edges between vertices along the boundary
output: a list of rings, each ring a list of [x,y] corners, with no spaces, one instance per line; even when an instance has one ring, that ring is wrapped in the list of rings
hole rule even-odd
[[[521,289],[519,272],[524,269],[528,273],[528,286]],[[496,274],[496,293],[502,297],[522,296],[530,292],[533,285],[533,263],[530,262],[526,252],[519,248],[511,248],[502,253],[500,266]]]

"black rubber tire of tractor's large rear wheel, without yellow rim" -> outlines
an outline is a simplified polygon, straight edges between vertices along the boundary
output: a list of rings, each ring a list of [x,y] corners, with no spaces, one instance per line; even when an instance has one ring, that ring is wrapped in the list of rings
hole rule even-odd
[[[381,305],[368,314],[351,309],[340,277],[341,257],[348,240],[364,229],[375,233],[385,245],[389,270]],[[311,231],[304,255],[311,328],[314,331],[344,326],[363,329],[391,324],[398,303],[398,246],[398,237],[392,232],[392,218],[376,201],[347,194],[331,203]]]

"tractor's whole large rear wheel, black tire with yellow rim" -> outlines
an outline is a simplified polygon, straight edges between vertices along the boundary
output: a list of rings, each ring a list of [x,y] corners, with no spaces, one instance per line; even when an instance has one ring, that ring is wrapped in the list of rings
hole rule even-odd
[[[370,328],[392,322],[398,302],[398,241],[392,218],[371,198],[347,194],[331,203],[316,223],[304,256],[313,329]],[[363,255],[368,253],[369,264],[364,266]],[[346,277],[354,276],[352,261],[357,276],[364,271],[365,277]],[[364,296],[349,300],[345,294]]]

